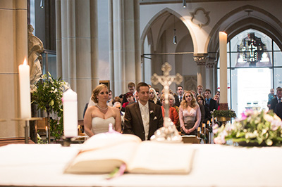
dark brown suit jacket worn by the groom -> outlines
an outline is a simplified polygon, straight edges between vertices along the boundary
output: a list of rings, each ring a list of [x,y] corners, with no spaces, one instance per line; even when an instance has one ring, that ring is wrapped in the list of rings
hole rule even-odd
[[[148,140],[164,125],[164,119],[161,114],[161,107],[152,102],[149,103],[149,134]],[[123,134],[135,134],[139,136],[142,141],[145,141],[145,129],[142,122],[139,103],[127,105],[124,115],[124,129]]]

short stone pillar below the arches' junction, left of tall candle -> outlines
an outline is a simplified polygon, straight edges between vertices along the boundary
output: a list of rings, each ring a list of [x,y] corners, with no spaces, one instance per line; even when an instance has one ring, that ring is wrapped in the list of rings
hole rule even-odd
[[[215,63],[215,58],[209,57],[209,60],[206,63],[207,67],[207,88],[212,91],[212,95],[214,95],[216,89],[216,79],[214,77],[214,66],[216,65]]]

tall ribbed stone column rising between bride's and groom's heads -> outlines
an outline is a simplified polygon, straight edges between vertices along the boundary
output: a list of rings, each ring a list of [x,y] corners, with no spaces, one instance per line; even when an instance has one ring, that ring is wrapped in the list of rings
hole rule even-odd
[[[118,96],[128,90],[128,82],[141,81],[139,1],[109,0],[109,7],[111,81]]]

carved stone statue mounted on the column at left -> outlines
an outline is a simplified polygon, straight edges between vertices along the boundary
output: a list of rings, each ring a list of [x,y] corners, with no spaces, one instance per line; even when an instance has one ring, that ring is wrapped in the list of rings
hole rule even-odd
[[[32,25],[27,26],[28,32],[28,64],[30,65],[30,87],[33,89],[37,81],[40,79],[42,75],[42,68],[40,61],[42,60],[42,56],[40,53],[44,51],[42,41],[35,37],[32,34],[33,32]]]

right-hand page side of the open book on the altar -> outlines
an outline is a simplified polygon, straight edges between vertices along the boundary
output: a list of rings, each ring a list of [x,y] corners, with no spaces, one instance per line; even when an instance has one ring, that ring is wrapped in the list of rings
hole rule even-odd
[[[195,149],[183,143],[143,141],[128,165],[131,173],[188,174]]]

